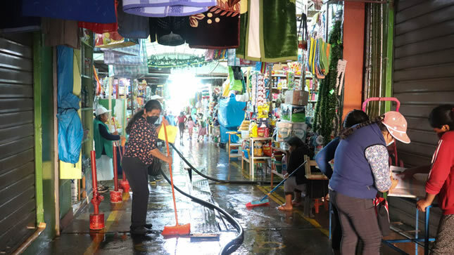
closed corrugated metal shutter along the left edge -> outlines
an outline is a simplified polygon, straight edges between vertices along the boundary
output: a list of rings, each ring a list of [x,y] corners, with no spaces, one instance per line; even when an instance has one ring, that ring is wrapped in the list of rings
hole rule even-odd
[[[0,38],[0,253],[34,232],[32,48]]]

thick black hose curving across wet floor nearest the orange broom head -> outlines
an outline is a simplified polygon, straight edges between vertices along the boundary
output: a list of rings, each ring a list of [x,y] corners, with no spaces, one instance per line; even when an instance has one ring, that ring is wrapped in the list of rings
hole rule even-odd
[[[170,143],[170,144],[172,144],[172,143]],[[160,169],[160,173],[164,176],[165,181],[168,181],[168,183],[170,185],[172,185],[172,183],[170,182],[170,179],[168,178],[168,176],[166,176],[164,174],[164,171],[162,168]],[[227,221],[229,221],[230,224],[232,224],[235,228],[237,228],[237,231],[238,231],[237,237],[235,237],[232,241],[225,244],[225,246],[222,247],[219,254],[221,254],[221,255],[232,254],[232,252],[234,252],[238,249],[238,247],[243,243],[243,240],[244,240],[244,230],[243,230],[243,227],[241,227],[241,225],[239,224],[239,222],[235,218],[232,217],[232,215],[228,214],[227,211],[224,211],[222,208],[217,207],[215,204],[206,202],[205,200],[201,200],[197,197],[193,197],[193,196],[187,194],[187,192],[180,190],[175,185],[173,185],[173,188],[175,188],[175,190],[177,190],[178,192],[182,193],[182,195],[189,197],[194,202],[201,204],[204,207],[208,207],[210,209],[215,209],[215,210],[219,211],[222,215],[225,216],[225,218],[227,218]]]

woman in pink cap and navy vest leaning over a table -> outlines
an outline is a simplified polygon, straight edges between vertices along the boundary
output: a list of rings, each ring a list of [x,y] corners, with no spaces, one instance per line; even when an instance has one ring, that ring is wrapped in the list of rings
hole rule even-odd
[[[356,254],[359,239],[362,254],[380,254],[382,233],[372,201],[377,192],[397,185],[389,171],[386,147],[395,140],[410,143],[406,131],[401,113],[386,112],[341,134],[329,181],[329,197],[342,227],[341,254]]]

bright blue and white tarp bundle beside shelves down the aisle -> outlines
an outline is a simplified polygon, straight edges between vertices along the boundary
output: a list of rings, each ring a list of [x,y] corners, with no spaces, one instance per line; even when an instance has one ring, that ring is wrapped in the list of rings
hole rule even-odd
[[[219,124],[228,129],[236,129],[244,120],[244,107],[246,107],[246,102],[238,102],[235,95],[219,100],[219,111],[217,113]]]

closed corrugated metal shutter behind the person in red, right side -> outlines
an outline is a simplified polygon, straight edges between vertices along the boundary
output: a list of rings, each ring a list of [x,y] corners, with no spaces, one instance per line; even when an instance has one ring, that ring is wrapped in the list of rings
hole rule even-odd
[[[396,6],[393,95],[402,103],[412,143],[398,145],[405,164],[430,164],[438,138],[427,117],[454,102],[454,1],[401,0]]]

